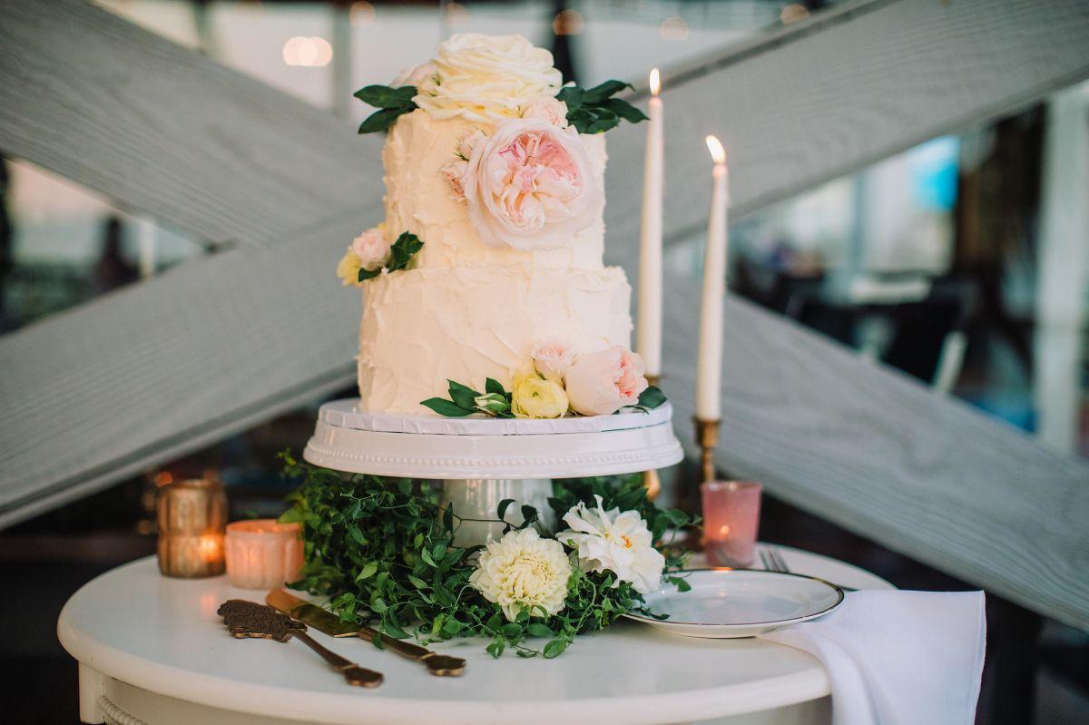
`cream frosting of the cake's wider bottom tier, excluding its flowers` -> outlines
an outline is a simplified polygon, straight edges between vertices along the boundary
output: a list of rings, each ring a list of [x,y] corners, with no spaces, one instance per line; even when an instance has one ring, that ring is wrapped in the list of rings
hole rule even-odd
[[[632,290],[619,267],[600,270],[429,267],[364,285],[359,397],[368,410],[435,415],[446,380],[507,390],[544,340],[578,352],[629,346]]]

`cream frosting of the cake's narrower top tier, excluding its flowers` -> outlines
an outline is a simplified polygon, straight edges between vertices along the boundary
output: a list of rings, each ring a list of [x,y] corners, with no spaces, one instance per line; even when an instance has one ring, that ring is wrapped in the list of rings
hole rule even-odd
[[[469,223],[468,207],[451,193],[440,169],[456,159],[458,144],[474,130],[491,127],[463,119],[437,121],[417,109],[393,124],[382,151],[386,164],[386,224],[394,238],[412,232],[424,241],[415,266],[526,265],[534,269],[601,269],[604,221],[601,216],[562,249],[521,251],[486,245]],[[604,134],[579,136],[590,158],[594,181],[603,188]]]

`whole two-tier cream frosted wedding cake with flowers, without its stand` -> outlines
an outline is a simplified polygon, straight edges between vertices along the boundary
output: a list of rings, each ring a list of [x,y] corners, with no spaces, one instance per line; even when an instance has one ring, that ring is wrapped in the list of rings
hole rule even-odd
[[[602,265],[602,132],[641,118],[612,97],[623,87],[565,88],[522,36],[458,35],[357,94],[379,109],[360,133],[389,132],[386,219],[338,269],[363,288],[362,409],[540,418],[639,402],[631,288]]]

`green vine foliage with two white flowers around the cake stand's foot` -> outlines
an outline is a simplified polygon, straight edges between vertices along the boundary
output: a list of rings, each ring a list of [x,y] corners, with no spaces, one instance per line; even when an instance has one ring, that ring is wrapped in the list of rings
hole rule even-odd
[[[503,537],[461,548],[461,518],[440,509],[431,484],[282,457],[285,477],[298,484],[282,519],[301,523],[305,542],[303,577],[293,586],[329,595],[343,620],[370,624],[386,637],[475,636],[497,658],[506,650],[553,658],[622,614],[653,615],[644,594],[662,577],[687,589],[671,574],[682,566],[681,552],[662,540],[695,521],[648,501],[638,476],[556,481],[549,505],[577,530],[543,530],[531,506],[518,509],[521,523],[506,520],[506,500],[494,519]],[[632,556],[614,558],[617,546]],[[527,560],[534,566],[512,570]],[[504,583],[512,579],[517,587]]]

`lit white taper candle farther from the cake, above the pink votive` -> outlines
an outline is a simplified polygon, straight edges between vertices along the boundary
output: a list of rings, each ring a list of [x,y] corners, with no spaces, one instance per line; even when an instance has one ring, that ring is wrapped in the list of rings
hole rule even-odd
[[[722,300],[726,294],[726,204],[730,176],[726,151],[714,136],[707,137],[714,159],[714,185],[703,255],[703,297],[699,318],[699,358],[696,366],[696,418],[718,420],[722,414]]]

